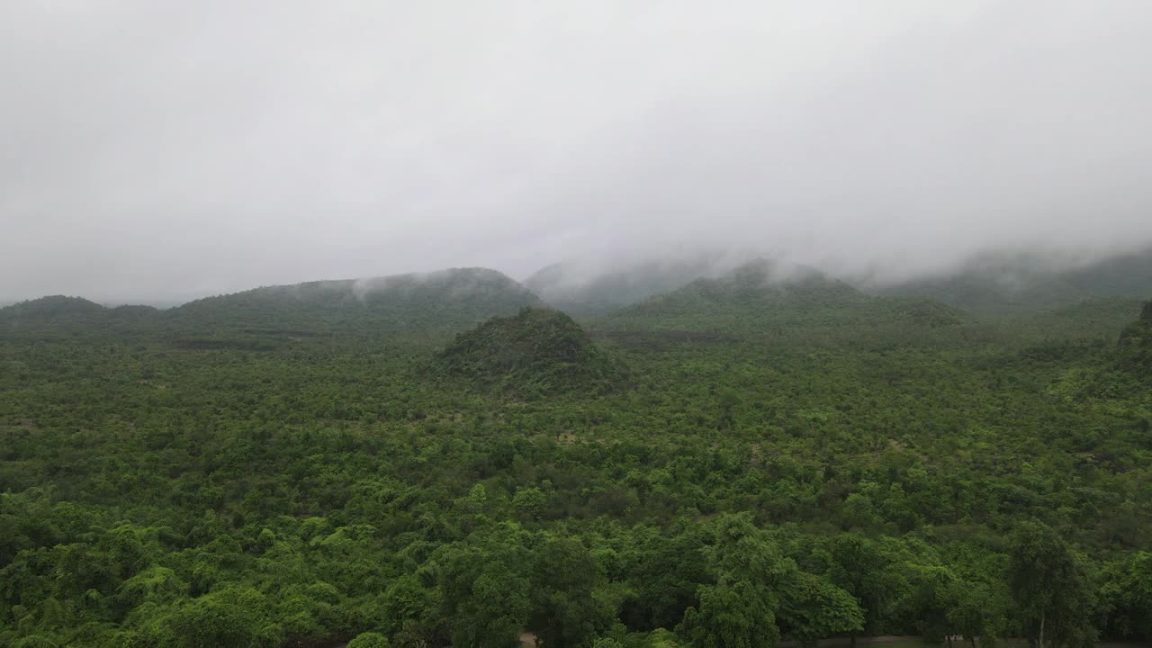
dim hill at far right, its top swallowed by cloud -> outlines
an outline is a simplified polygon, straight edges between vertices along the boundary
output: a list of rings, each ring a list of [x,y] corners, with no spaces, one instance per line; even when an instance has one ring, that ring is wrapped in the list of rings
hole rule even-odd
[[[1152,294],[1152,249],[1076,268],[1024,254],[983,255],[956,272],[877,292],[930,297],[983,316],[1038,312],[1098,297],[1144,299]]]

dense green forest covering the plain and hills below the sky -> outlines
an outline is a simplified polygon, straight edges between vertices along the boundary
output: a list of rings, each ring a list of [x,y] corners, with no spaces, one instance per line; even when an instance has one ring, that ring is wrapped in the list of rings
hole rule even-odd
[[[0,646],[1152,641],[1152,280],[626,274],[0,309]]]

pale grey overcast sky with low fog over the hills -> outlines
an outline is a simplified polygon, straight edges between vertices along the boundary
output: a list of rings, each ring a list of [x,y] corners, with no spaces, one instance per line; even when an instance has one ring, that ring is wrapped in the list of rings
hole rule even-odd
[[[1147,0],[0,2],[0,301],[1152,244]]]

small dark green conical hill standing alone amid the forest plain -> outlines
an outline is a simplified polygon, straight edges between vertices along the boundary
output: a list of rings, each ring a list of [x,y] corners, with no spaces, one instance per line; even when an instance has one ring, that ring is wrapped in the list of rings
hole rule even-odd
[[[440,380],[520,398],[598,393],[622,379],[584,330],[551,308],[524,308],[458,334],[431,371]]]

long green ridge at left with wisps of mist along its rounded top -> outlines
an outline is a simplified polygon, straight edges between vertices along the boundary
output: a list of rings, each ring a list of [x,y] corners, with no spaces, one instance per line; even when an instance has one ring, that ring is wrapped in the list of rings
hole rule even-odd
[[[0,332],[116,330],[160,336],[189,348],[270,349],[288,338],[335,331],[457,331],[539,303],[531,291],[500,272],[465,268],[268,286],[167,310],[106,308],[56,295],[0,308]]]

